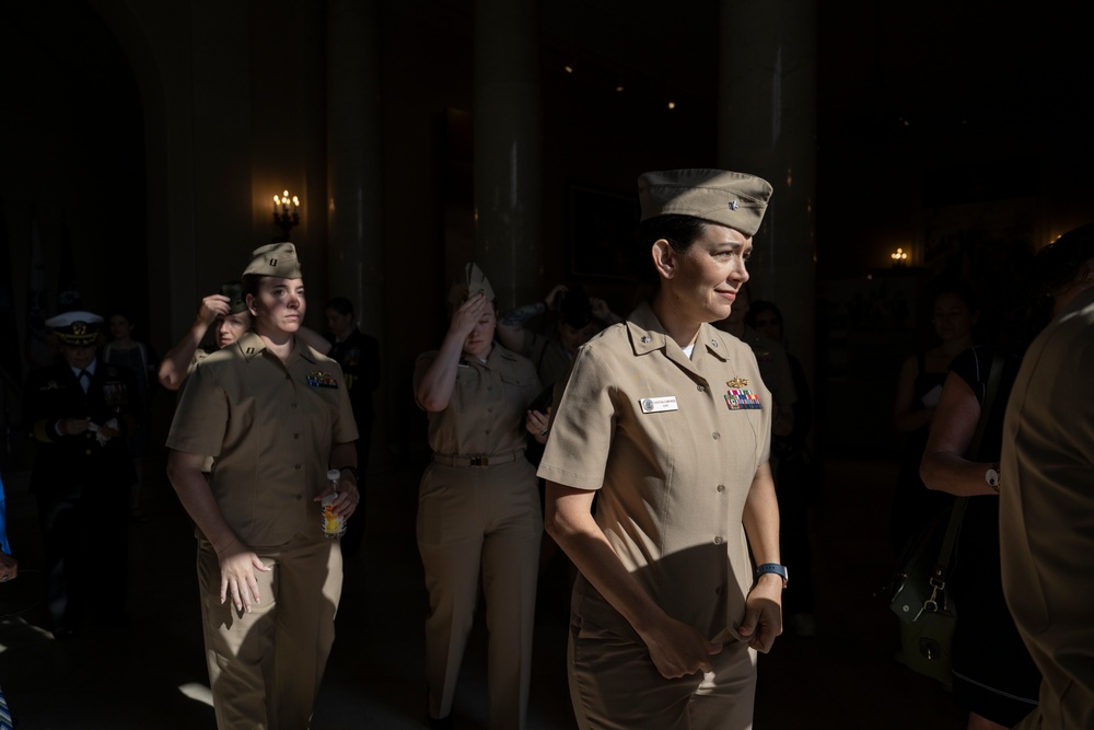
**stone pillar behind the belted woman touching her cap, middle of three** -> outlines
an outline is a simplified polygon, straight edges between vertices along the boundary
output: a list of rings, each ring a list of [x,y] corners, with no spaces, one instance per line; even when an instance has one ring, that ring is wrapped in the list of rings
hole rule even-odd
[[[501,311],[544,296],[535,0],[475,0],[475,256]]]

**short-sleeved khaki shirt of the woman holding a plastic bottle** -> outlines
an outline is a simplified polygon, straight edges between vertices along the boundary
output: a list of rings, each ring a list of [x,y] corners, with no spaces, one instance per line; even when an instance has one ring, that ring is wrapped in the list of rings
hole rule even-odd
[[[296,340],[289,361],[248,332],[197,363],[167,447],[213,456],[210,487],[224,519],[251,545],[279,545],[319,529],[314,498],[331,449],[357,440],[338,363]]]

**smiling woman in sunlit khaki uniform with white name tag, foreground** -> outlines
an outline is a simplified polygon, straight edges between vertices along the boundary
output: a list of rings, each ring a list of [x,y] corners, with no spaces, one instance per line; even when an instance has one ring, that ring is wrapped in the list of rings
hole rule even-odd
[[[539,467],[547,530],[581,571],[571,700],[586,729],[742,730],[785,568],[771,395],[749,347],[709,323],[748,279],[771,187],[682,170],[639,193],[659,289],[579,350]]]

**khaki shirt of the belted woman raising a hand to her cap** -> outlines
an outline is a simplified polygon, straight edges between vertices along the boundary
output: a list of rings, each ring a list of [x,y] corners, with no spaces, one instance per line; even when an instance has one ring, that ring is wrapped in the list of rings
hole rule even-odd
[[[415,363],[417,390],[437,351]],[[429,414],[429,445],[446,456],[492,456],[523,449],[525,410],[539,394],[539,378],[526,358],[494,344],[486,363],[461,359],[449,407]]]

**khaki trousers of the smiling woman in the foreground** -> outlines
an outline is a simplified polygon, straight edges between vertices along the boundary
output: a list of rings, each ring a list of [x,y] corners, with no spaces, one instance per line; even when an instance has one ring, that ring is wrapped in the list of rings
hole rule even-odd
[[[570,618],[570,700],[581,730],[748,730],[756,652],[726,642],[714,671],[661,676],[645,645]]]

